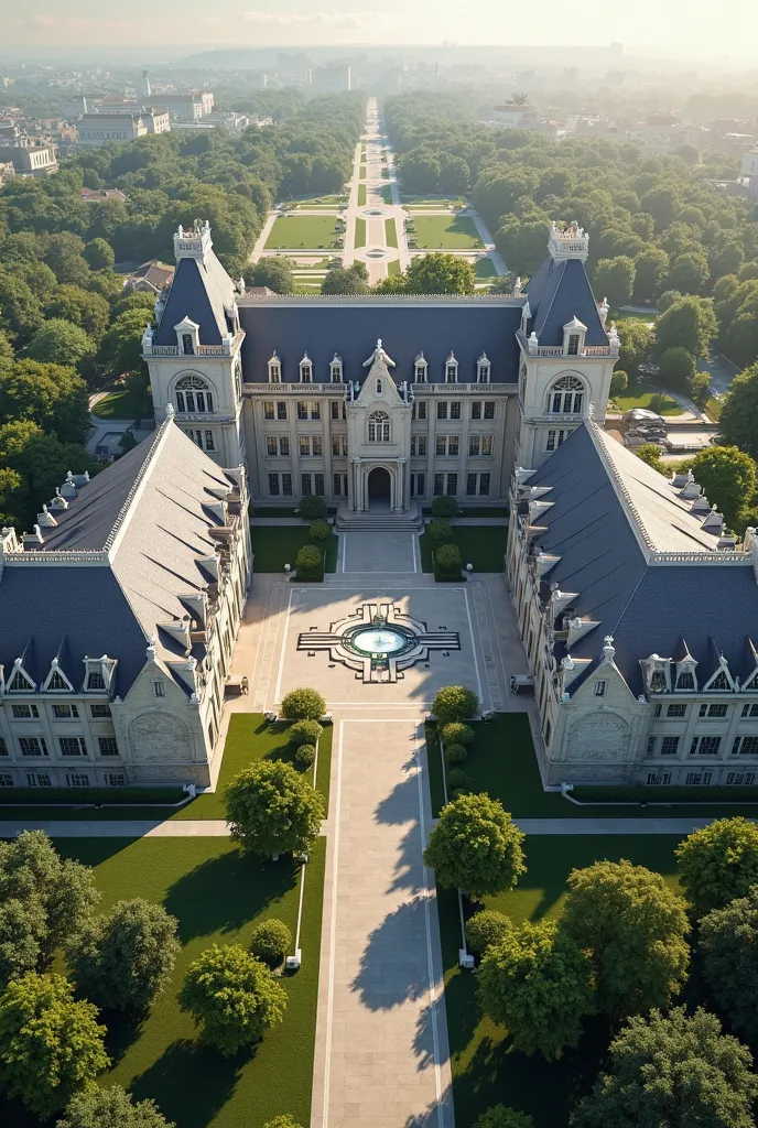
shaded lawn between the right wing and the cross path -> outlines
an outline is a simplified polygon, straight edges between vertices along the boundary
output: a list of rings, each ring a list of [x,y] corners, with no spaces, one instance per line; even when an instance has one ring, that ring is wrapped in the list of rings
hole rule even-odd
[[[476,739],[468,750],[468,758],[461,765],[471,781],[471,790],[486,791],[493,799],[499,799],[506,811],[515,819],[660,819],[666,816],[676,818],[703,818],[717,816],[746,814],[755,818],[756,808],[750,803],[740,804],[735,795],[734,804],[724,804],[721,800],[707,802],[707,791],[703,787],[691,787],[691,803],[680,803],[675,807],[651,805],[651,802],[667,802],[667,787],[645,788],[650,793],[647,805],[618,807],[611,803],[592,803],[578,807],[568,802],[557,792],[543,790],[543,782],[537,767],[537,759],[531,742],[529,717],[527,713],[501,713],[490,724],[474,724]],[[432,813],[437,816],[443,802],[442,761],[439,741],[433,726],[429,730],[429,774],[432,793]],[[593,788],[582,788],[582,797]],[[618,790],[618,788],[617,788]],[[677,788],[680,792],[681,788]],[[601,793],[599,793],[601,794]],[[616,797],[616,795],[614,795]],[[677,795],[677,797],[679,797]]]

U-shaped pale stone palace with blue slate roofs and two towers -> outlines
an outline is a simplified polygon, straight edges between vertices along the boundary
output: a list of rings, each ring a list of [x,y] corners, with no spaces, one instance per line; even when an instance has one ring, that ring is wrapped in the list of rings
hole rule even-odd
[[[546,785],[756,782],[758,539],[603,430],[618,337],[581,229],[513,298],[261,296],[208,223],[175,248],[155,437],[0,535],[0,787],[208,784],[248,503],[309,494],[356,529],[509,506]]]

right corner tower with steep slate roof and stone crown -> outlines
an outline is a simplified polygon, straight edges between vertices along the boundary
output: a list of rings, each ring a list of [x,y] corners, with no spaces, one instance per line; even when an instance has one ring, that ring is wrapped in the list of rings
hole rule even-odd
[[[517,333],[519,433],[515,465],[536,469],[580,423],[590,404],[602,425],[618,335],[606,331],[608,303],[587,276],[589,235],[576,223],[550,227],[548,255],[529,280]]]

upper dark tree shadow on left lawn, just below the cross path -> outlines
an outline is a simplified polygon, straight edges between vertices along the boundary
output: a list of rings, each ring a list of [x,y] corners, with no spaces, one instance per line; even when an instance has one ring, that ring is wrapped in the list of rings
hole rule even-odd
[[[178,917],[183,944],[214,932],[236,932],[296,884],[300,866],[229,851],[183,874],[168,889],[164,908]]]

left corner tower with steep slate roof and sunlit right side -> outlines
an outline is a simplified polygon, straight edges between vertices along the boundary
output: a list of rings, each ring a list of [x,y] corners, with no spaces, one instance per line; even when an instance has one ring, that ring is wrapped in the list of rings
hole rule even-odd
[[[245,464],[243,361],[245,331],[235,283],[213,253],[208,221],[174,236],[176,272],[142,337],[156,422],[171,404],[196,446],[221,466]]]

